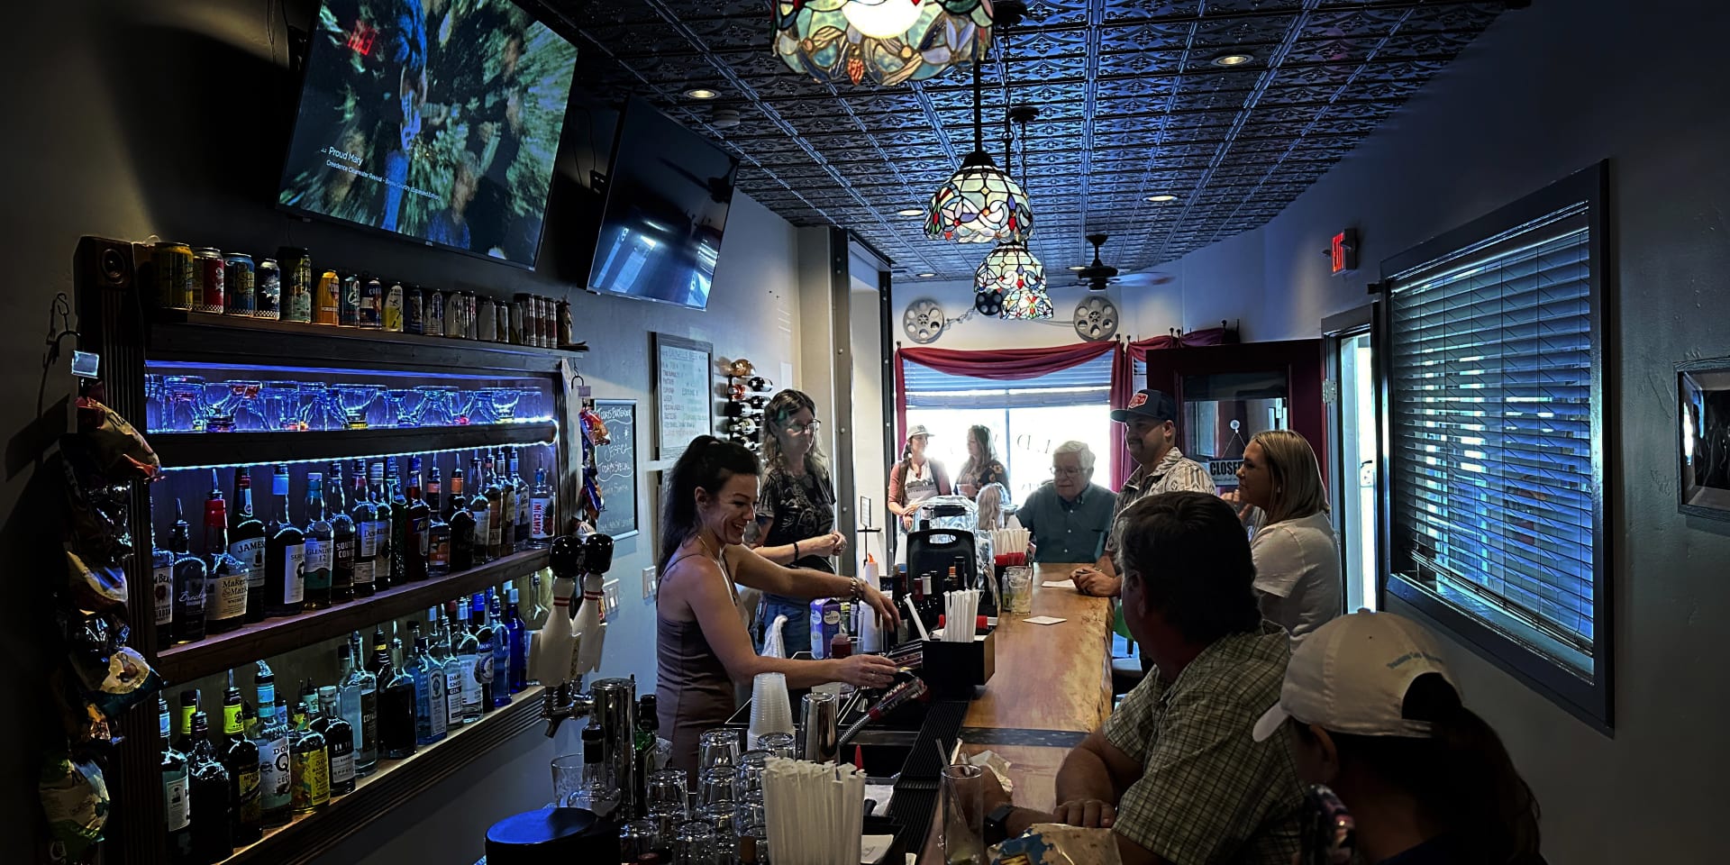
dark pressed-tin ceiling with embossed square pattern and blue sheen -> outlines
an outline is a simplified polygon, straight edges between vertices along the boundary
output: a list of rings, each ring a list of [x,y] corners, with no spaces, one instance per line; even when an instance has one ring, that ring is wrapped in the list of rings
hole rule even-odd
[[[772,52],[766,0],[547,0],[578,86],[644,95],[740,157],[739,189],[794,225],[839,225],[900,273],[972,279],[984,244],[927,240],[922,208],[972,149],[967,69],[924,85],[830,86]],[[1477,36],[1503,2],[1033,0],[1009,47],[1028,126],[1033,253],[1057,282],[1147,268],[1266,223]],[[562,19],[562,21],[561,21]],[[998,47],[1005,47],[1000,40]],[[1223,67],[1223,54],[1253,61]],[[1002,66],[986,67],[998,164]],[[699,102],[689,88],[720,97]],[[739,111],[732,128],[716,109]],[[1019,175],[1019,170],[1017,170]],[[1176,201],[1145,197],[1173,194]],[[901,279],[907,279],[905,275]]]

